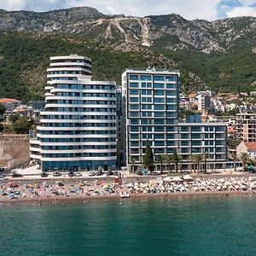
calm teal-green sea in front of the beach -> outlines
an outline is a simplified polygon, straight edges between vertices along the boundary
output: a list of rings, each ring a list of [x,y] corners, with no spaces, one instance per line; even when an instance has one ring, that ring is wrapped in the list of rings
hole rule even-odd
[[[0,255],[256,255],[256,196],[0,205]]]

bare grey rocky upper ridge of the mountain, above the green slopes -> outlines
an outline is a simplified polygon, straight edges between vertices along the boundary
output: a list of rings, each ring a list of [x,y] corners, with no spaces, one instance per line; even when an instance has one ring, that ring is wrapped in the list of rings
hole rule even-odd
[[[96,9],[81,7],[45,13],[0,10],[0,30],[38,33],[73,33],[98,41],[156,46],[171,50],[193,49],[206,54],[225,52],[241,38],[254,45],[256,18],[224,20],[185,20],[180,15],[154,15],[144,18],[102,15]]]

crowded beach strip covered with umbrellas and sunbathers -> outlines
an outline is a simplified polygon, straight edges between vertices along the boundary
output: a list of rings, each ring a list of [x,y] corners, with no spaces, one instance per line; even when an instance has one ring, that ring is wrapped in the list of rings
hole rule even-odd
[[[178,196],[229,196],[253,195],[256,177],[153,177],[124,180],[122,184],[113,179],[31,181],[11,180],[0,183],[0,202],[38,202],[42,204],[70,201],[109,201],[154,198],[177,198]]]

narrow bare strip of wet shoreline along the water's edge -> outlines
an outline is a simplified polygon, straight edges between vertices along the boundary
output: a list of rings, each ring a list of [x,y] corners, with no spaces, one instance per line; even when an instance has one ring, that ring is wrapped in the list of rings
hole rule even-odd
[[[254,191],[216,191],[216,192],[178,192],[178,193],[148,193],[148,194],[131,194],[129,198],[121,198],[119,195],[84,195],[84,196],[38,196],[38,197],[20,197],[19,199],[9,200],[8,198],[1,198],[0,204],[16,205],[20,203],[35,203],[38,205],[45,203],[55,204],[58,203],[71,203],[71,202],[84,202],[90,201],[134,201],[139,199],[155,200],[155,199],[177,199],[178,197],[212,197],[212,196],[229,196],[242,195],[255,195]]]

